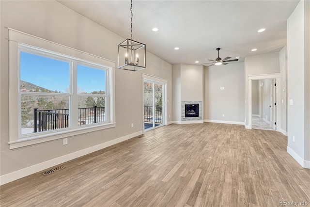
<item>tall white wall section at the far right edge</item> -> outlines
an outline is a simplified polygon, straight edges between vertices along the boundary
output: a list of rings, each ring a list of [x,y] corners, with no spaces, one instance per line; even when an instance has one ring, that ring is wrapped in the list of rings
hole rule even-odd
[[[288,148],[310,168],[310,1],[300,1],[287,20]],[[293,136],[295,141],[293,141]]]

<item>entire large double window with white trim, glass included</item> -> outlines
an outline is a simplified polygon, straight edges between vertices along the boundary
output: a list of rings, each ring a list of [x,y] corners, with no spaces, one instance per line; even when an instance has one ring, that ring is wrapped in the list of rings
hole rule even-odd
[[[10,41],[11,149],[115,127],[114,63],[49,44]]]

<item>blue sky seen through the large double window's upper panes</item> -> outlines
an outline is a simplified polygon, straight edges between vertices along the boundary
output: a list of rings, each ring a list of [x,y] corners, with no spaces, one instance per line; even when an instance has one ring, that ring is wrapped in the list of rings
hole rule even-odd
[[[20,53],[20,80],[52,90],[66,92],[69,88],[68,62],[27,52]],[[78,89],[91,93],[105,90],[105,71],[78,65]]]

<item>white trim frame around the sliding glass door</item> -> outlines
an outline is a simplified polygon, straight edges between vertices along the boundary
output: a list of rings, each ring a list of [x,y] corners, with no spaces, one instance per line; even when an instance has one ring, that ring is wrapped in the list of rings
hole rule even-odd
[[[142,134],[144,134],[144,81],[152,81],[163,85],[163,124],[167,125],[167,84],[168,80],[142,73]]]

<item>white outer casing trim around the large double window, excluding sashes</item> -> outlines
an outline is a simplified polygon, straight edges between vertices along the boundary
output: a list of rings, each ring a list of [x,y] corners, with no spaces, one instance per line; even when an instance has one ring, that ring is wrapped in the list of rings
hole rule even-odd
[[[116,127],[115,122],[115,62],[95,56],[74,48],[63,46],[40,37],[36,37],[24,32],[20,32],[11,28],[9,30],[9,145],[10,149],[28,146],[37,143],[44,143],[52,140],[62,139],[69,136],[84,134],[96,130]],[[109,84],[109,123],[97,123],[90,126],[82,126],[78,128],[65,128],[55,130],[51,133],[35,133],[31,137],[23,139],[18,138],[18,130],[16,130],[16,123],[19,122],[20,116],[18,115],[18,91],[19,91],[19,62],[18,62],[18,47],[19,44],[29,45],[36,48],[43,48],[46,50],[54,51],[56,53],[64,54],[70,57],[75,57],[76,61],[85,60],[90,63],[97,63],[109,68],[108,71],[108,84]],[[84,63],[84,62],[83,62]]]

